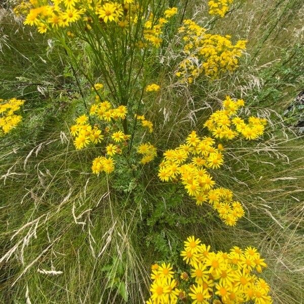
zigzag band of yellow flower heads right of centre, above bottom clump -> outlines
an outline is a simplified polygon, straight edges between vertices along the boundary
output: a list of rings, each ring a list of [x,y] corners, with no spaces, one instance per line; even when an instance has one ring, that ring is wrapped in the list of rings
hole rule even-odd
[[[246,124],[236,115],[243,105],[242,99],[235,101],[226,97],[223,110],[213,113],[205,123],[214,138],[234,139],[240,133],[246,139],[255,139],[263,134],[264,119],[249,117]],[[165,151],[158,176],[162,181],[180,180],[198,206],[209,203],[226,225],[234,226],[244,216],[244,209],[238,201],[233,200],[233,193],[229,189],[214,188],[215,181],[207,171],[220,168],[224,162],[223,146],[216,145],[214,138],[200,138],[196,131],[192,131],[185,143]]]

